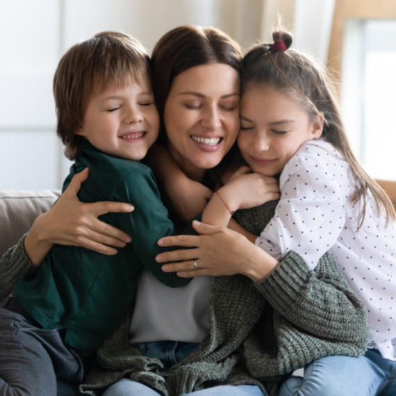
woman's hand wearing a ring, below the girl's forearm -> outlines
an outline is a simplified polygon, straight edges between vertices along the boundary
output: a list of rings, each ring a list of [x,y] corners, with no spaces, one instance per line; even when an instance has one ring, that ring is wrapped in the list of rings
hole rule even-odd
[[[243,274],[260,281],[279,265],[279,261],[236,231],[197,221],[192,224],[201,235],[168,236],[158,240],[160,246],[192,247],[158,254],[159,263],[172,262],[163,265],[164,272],[177,272],[179,277]]]

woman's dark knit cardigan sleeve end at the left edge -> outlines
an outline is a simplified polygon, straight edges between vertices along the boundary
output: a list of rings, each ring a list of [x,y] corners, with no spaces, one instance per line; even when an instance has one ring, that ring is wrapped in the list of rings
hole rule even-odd
[[[24,250],[24,236],[0,258],[0,302],[13,290],[15,283],[27,272],[35,270]]]

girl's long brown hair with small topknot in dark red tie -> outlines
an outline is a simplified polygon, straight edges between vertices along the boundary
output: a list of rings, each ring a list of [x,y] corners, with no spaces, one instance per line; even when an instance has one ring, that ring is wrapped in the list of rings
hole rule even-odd
[[[388,220],[395,220],[395,209],[388,195],[363,170],[352,152],[329,76],[313,58],[289,49],[292,44],[290,33],[278,30],[272,34],[272,38],[274,43],[257,44],[243,58],[242,92],[249,89],[250,85],[271,85],[293,94],[306,107],[309,117],[323,114],[322,139],[343,154],[352,170],[356,182],[352,201],[363,199],[359,228],[364,220],[369,191],[374,197],[378,213],[382,207]]]

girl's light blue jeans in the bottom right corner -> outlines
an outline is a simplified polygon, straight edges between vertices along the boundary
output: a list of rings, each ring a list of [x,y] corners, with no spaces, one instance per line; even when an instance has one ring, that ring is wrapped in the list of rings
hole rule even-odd
[[[364,356],[328,356],[304,370],[304,378],[290,377],[279,396],[395,396],[396,362],[374,349]]]

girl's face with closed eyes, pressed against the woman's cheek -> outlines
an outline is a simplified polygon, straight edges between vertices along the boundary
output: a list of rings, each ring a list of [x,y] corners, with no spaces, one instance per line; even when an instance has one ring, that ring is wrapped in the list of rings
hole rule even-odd
[[[310,120],[292,94],[251,85],[240,101],[238,146],[253,172],[275,176],[308,140],[320,138],[323,118]]]

